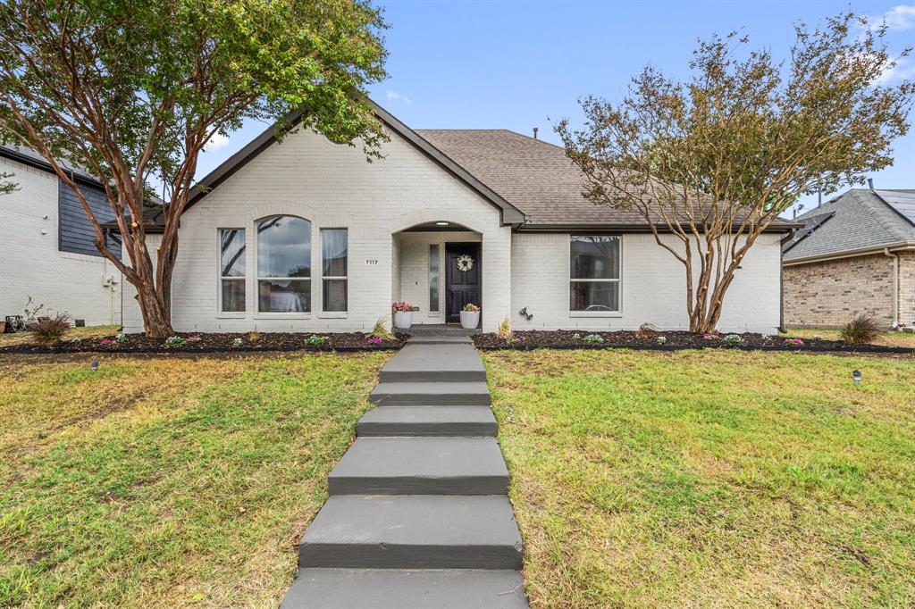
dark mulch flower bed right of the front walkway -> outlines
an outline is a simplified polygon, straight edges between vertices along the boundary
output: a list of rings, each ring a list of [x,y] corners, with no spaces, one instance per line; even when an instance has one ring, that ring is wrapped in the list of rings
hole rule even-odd
[[[552,349],[606,349],[630,348],[651,349],[658,351],[676,351],[680,349],[701,348],[729,348],[743,350],[766,351],[813,351],[813,352],[842,352],[842,353],[885,353],[885,354],[915,354],[915,349],[910,347],[888,347],[883,345],[848,345],[838,340],[823,340],[817,338],[802,338],[802,344],[786,342],[786,337],[761,334],[737,334],[740,342],[728,343],[727,334],[705,337],[692,332],[659,332],[656,336],[639,337],[634,331],[617,332],[588,332],[587,330],[530,330],[515,332],[513,337],[506,341],[495,334],[475,334],[473,343],[480,349],[498,350],[513,349],[528,351],[538,348]],[[586,337],[597,336],[603,342],[589,342]],[[664,337],[659,342],[658,337]]]

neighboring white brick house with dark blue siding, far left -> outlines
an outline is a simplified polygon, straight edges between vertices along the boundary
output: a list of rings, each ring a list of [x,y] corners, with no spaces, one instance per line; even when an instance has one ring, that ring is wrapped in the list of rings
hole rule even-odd
[[[102,220],[112,219],[94,177],[70,170]],[[18,189],[0,195],[0,321],[23,315],[31,297],[44,313],[69,314],[88,326],[121,322],[121,272],[102,258],[73,190],[26,148],[0,146],[0,173]],[[120,254],[112,240],[110,247]]]

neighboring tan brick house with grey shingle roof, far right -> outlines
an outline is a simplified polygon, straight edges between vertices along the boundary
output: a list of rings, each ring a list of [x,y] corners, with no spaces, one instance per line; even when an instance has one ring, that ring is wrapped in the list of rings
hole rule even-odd
[[[915,326],[915,190],[853,188],[797,220],[805,227],[782,247],[786,326],[858,314]]]

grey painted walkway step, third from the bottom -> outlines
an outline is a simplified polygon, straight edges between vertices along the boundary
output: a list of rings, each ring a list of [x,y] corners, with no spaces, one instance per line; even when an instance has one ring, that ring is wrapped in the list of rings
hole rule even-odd
[[[330,495],[504,495],[495,438],[357,438],[328,475]]]

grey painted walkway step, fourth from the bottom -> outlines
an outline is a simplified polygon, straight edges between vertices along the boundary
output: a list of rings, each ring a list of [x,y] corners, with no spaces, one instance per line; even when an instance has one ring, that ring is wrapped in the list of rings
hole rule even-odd
[[[386,406],[362,415],[357,433],[361,437],[494,436],[496,418],[488,406]]]

